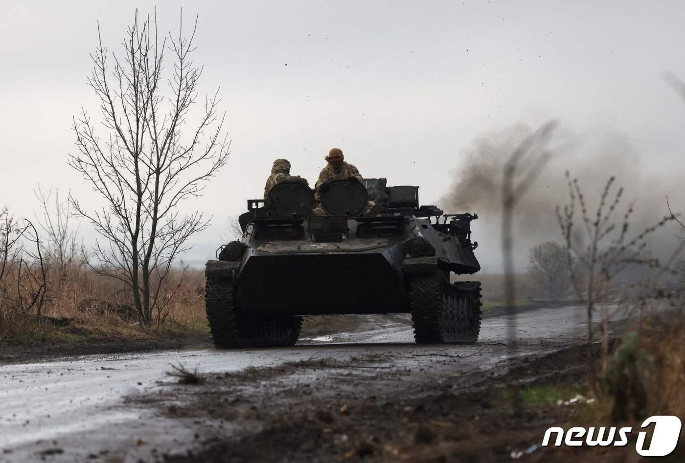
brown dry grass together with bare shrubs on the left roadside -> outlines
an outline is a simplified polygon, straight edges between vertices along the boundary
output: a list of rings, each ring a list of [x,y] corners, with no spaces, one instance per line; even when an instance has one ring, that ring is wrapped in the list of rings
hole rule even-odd
[[[204,336],[204,275],[170,267],[158,286],[166,302],[154,325],[141,325],[134,295],[121,279],[88,265],[68,202],[36,192],[36,226],[0,212],[0,342],[75,347],[84,341],[169,340]],[[154,280],[154,275],[152,279]]]

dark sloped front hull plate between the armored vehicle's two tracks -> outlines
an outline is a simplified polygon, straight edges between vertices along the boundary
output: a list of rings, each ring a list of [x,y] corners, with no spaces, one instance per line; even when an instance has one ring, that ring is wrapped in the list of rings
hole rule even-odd
[[[408,312],[403,275],[384,252],[251,255],[236,279],[240,311],[325,315]]]

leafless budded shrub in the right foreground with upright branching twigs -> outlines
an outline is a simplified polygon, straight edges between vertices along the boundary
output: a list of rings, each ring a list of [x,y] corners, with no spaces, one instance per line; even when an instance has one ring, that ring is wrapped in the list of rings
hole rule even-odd
[[[584,275],[580,279],[578,272],[571,272],[577,297],[586,305],[589,345],[595,342],[595,321],[599,319],[602,327],[599,359],[593,357],[592,350],[588,351],[588,385],[596,396],[601,397],[600,378],[610,366],[609,321],[617,315],[631,314],[647,317],[649,320],[648,316],[660,308],[660,302],[664,299],[675,307],[680,295],[664,292],[660,284],[667,281],[667,277],[677,275],[673,264],[683,246],[676,247],[667,262],[652,258],[646,252],[649,240],[657,229],[675,221],[673,214],[656,220],[645,229],[631,232],[630,219],[634,212],[632,204],[625,208],[619,220],[614,218],[615,214],[619,214],[623,197],[622,187],[612,188],[614,177],[610,177],[604,186],[594,214],[589,212],[590,205],[578,179],[572,179],[569,173],[566,173],[566,178],[570,203],[558,208],[557,216],[566,242],[569,268],[574,268],[577,261]],[[615,281],[630,268],[640,269],[645,277],[623,285],[622,294],[616,297]],[[614,355],[621,353],[614,352]],[[638,362],[638,359],[634,358],[632,362]],[[638,371],[641,367],[633,364],[630,368]],[[627,384],[621,385],[621,388],[628,387]]]

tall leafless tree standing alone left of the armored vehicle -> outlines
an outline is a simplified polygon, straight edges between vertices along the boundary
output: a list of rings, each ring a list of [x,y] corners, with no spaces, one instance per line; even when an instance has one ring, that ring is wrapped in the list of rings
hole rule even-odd
[[[199,212],[182,215],[179,204],[201,195],[206,182],[223,167],[230,142],[223,134],[223,116],[217,115],[217,97],[206,97],[201,117],[188,129],[188,114],[197,102],[202,67],[192,62],[193,38],[184,36],[183,15],[179,34],[159,40],[156,15],[140,23],[138,11],[123,42],[123,56],[99,46],[88,84],[100,100],[101,138],[85,110],[73,118],[77,153],[69,165],[81,173],[107,205],[86,210],[73,196],[75,212],[95,228],[101,239],[89,265],[123,281],[132,291],[142,322],[168,299],[163,292],[171,265],[188,248],[190,236],[209,225]],[[167,48],[168,46],[168,48]],[[171,77],[162,78],[164,53],[173,53]]]

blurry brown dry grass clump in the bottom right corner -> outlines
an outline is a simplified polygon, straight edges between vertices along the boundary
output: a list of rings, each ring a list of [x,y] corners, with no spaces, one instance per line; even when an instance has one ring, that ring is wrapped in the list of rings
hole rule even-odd
[[[597,379],[599,395],[592,404],[566,408],[574,426],[630,426],[639,429],[649,416],[685,414],[685,305],[645,316],[632,323],[616,342],[608,366]],[[598,360],[599,362],[599,360]],[[590,378],[588,386],[590,386]],[[612,387],[613,386],[613,387]],[[682,442],[685,429],[681,429]],[[682,446],[680,446],[682,447]],[[677,447],[666,461],[682,461]],[[597,462],[638,461],[634,447],[588,449]],[[680,452],[679,452],[680,449]],[[586,460],[577,455],[575,460]]]

